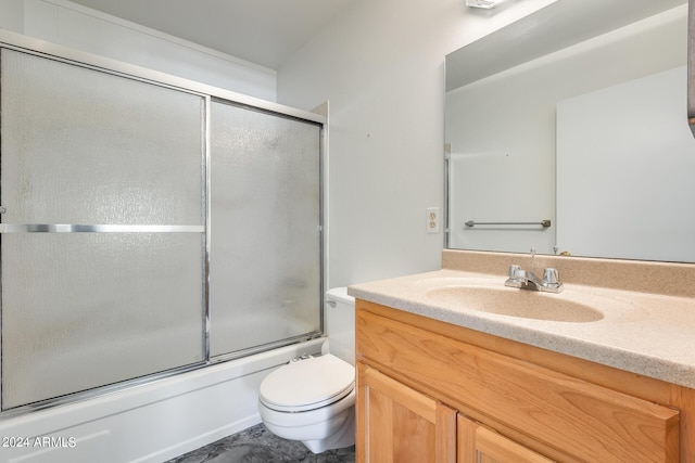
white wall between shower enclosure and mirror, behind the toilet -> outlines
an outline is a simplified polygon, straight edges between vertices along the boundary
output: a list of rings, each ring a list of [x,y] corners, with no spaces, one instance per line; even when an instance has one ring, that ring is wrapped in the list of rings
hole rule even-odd
[[[330,100],[329,287],[439,269],[444,56],[553,0],[359,0],[278,69],[278,101]]]

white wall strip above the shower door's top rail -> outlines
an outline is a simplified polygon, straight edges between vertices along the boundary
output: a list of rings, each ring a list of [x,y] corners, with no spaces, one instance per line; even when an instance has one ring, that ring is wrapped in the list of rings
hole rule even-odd
[[[0,28],[268,101],[276,72],[66,0],[2,0]]]

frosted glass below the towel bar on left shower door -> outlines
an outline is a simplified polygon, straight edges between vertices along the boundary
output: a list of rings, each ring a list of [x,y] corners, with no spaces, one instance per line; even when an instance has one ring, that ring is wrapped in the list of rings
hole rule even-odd
[[[2,408],[203,360],[201,235],[2,235]]]

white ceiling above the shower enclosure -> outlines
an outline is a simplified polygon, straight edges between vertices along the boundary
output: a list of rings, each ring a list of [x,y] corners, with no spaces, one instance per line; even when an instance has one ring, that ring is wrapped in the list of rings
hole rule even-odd
[[[72,0],[278,69],[356,0]]]

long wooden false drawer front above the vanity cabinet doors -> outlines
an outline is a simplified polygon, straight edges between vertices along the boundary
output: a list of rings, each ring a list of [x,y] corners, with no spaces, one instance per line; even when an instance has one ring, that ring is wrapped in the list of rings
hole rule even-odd
[[[597,462],[675,462],[679,412],[357,310],[357,359],[481,421]]]

